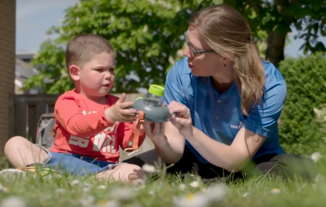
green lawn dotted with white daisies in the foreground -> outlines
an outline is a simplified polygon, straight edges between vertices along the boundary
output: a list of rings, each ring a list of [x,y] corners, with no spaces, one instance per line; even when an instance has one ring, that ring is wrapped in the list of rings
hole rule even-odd
[[[0,207],[23,206],[324,206],[326,174],[314,181],[260,176],[203,184],[195,175],[149,175],[135,186],[54,173],[0,176]],[[156,176],[157,179],[152,179]]]

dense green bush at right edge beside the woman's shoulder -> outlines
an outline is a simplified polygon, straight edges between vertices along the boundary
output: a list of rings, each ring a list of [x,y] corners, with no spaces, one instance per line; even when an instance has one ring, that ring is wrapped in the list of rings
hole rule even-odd
[[[326,103],[326,58],[323,53],[286,58],[279,66],[287,98],[280,117],[280,142],[286,153],[311,154],[324,145],[314,108]]]

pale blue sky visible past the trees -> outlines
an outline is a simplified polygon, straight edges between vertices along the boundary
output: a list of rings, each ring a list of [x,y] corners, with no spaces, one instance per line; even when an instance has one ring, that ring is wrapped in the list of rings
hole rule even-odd
[[[17,0],[16,13],[16,52],[36,52],[46,39],[45,32],[52,25],[60,25],[64,19],[64,10],[78,0]],[[293,40],[286,46],[285,54],[296,57],[304,41]],[[321,39],[326,44],[326,38]]]

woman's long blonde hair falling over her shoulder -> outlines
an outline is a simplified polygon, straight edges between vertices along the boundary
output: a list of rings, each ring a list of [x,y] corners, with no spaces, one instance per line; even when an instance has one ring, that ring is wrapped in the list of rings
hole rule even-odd
[[[189,24],[212,49],[234,62],[241,109],[248,116],[250,108],[263,96],[265,74],[246,18],[232,7],[214,5],[196,13]]]

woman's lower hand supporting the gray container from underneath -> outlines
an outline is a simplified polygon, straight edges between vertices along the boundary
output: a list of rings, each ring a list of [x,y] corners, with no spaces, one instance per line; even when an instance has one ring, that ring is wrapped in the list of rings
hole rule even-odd
[[[164,125],[165,123],[151,123],[147,120],[144,120],[142,124],[148,138],[155,144],[164,144],[167,142],[167,137],[164,134]]]

